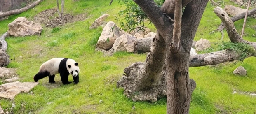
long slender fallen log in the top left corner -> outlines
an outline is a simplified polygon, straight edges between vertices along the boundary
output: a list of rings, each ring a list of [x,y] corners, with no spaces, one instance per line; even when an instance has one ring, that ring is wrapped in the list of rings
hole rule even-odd
[[[15,9],[15,10],[11,10],[11,11],[8,11],[8,12],[2,12],[2,13],[0,13],[0,18],[1,17],[5,17],[5,16],[10,16],[10,15],[14,15],[14,14],[19,14],[19,13],[25,12],[28,9],[31,9],[31,8],[35,7],[36,5],[38,5],[42,1],[43,0],[38,0],[36,2],[33,2],[31,5],[23,7],[21,9]]]

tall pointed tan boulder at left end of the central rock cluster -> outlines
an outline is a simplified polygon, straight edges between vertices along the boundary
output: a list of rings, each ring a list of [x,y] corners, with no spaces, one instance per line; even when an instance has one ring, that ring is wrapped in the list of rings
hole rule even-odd
[[[96,47],[109,50],[115,43],[115,39],[117,37],[120,37],[124,33],[125,32],[123,30],[120,31],[120,28],[117,27],[114,22],[109,21],[107,25],[103,28]]]

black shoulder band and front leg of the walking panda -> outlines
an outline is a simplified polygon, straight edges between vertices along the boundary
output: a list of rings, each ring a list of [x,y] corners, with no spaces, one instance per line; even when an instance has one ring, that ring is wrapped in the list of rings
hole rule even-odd
[[[66,67],[67,60],[68,58],[64,58],[61,60],[61,63],[59,63],[59,70],[58,70],[59,74],[61,75],[61,81],[65,85],[72,83],[68,81],[69,72]]]

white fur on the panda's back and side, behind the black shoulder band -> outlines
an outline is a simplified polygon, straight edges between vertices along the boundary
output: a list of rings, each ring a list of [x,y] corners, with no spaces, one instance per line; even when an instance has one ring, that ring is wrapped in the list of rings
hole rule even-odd
[[[39,72],[48,71],[50,75],[59,74],[59,65],[64,58],[52,58],[40,66]]]

